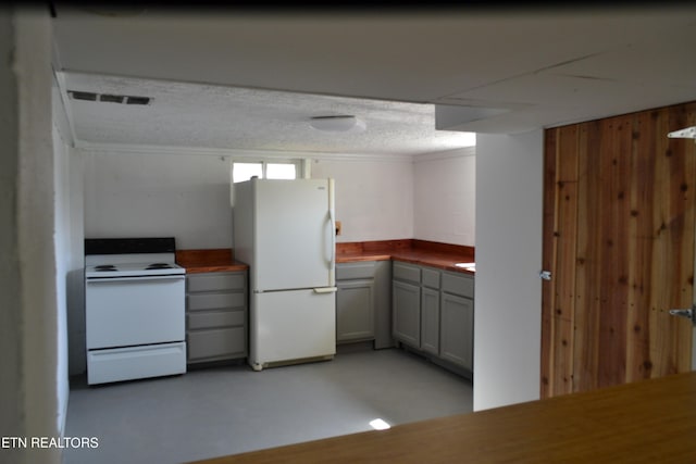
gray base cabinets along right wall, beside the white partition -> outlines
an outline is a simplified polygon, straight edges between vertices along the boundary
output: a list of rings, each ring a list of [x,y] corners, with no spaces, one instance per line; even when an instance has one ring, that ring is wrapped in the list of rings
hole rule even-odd
[[[473,297],[473,276],[395,261],[394,338],[445,367],[470,375]]]

